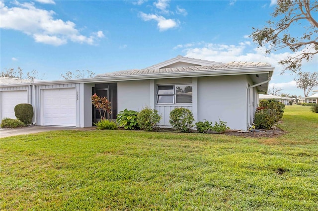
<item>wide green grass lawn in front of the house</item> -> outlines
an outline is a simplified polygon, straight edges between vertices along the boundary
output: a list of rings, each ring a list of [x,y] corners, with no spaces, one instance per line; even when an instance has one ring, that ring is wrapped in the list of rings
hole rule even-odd
[[[318,210],[318,115],[277,138],[52,131],[0,141],[1,210]]]

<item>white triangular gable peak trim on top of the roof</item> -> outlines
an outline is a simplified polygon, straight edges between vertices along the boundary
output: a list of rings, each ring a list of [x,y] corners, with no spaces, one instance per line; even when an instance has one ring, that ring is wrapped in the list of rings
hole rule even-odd
[[[222,64],[221,62],[202,60],[198,58],[189,58],[189,57],[178,55],[174,58],[168,59],[158,64],[154,64],[150,67],[146,67],[145,69],[148,70],[148,69],[169,68],[171,64],[175,64],[175,63],[183,63],[186,66],[211,66],[211,65]]]

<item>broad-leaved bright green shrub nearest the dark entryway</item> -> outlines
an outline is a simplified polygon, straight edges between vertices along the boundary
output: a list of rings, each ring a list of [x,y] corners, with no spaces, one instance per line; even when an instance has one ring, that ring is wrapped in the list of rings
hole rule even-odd
[[[127,108],[123,111],[120,111],[117,114],[117,124],[120,127],[124,127],[126,130],[135,130],[139,129],[139,125],[137,122],[137,111],[127,110]]]

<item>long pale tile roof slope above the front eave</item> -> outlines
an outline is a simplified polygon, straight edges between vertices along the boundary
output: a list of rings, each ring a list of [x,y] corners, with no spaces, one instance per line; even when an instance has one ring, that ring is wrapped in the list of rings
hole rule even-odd
[[[151,75],[160,73],[185,73],[185,72],[196,72],[196,71],[217,71],[227,69],[249,69],[249,68],[261,68],[271,67],[268,63],[261,62],[230,62],[220,63],[212,66],[190,66],[190,67],[174,67],[174,68],[162,68],[162,69],[132,69],[118,72],[110,72],[104,74],[98,74],[97,77],[110,77],[110,76],[132,76],[132,75]]]

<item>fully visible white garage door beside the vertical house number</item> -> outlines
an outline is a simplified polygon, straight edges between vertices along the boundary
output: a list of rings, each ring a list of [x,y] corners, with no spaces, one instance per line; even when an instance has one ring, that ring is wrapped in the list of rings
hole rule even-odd
[[[43,125],[76,126],[75,88],[43,90]]]

